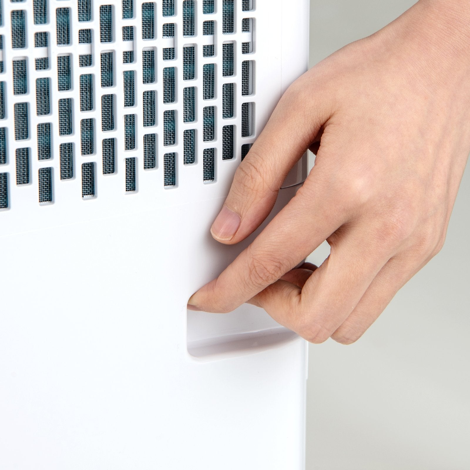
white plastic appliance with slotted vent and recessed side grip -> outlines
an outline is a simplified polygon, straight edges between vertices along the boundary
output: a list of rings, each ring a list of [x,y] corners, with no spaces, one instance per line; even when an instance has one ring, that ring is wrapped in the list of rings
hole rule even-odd
[[[0,6],[0,470],[303,468],[305,342],[186,305],[308,1]]]

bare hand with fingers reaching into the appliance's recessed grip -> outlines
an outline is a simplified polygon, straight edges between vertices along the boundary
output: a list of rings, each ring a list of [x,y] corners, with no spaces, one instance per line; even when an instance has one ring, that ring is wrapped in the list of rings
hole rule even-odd
[[[444,243],[470,151],[470,2],[420,0],[298,78],[212,236],[250,235],[307,148],[315,165],[296,196],[188,308],[249,302],[312,343],[351,344]],[[325,240],[321,266],[296,268]]]

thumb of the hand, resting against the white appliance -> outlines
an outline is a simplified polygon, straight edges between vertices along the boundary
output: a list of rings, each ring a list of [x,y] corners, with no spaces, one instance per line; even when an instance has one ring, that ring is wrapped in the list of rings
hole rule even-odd
[[[309,72],[283,94],[266,127],[235,172],[227,199],[211,227],[222,243],[238,243],[272,210],[282,182],[331,116],[326,96],[312,90]]]

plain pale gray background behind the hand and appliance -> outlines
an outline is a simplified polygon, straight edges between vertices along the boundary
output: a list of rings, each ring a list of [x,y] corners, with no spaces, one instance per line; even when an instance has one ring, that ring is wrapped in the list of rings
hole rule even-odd
[[[313,0],[311,65],[413,3]],[[307,470],[470,469],[469,203],[467,169],[439,255],[357,343],[310,345]]]

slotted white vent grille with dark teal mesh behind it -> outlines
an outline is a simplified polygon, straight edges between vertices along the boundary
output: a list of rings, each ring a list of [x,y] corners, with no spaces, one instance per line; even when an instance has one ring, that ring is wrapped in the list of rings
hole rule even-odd
[[[61,185],[96,197],[103,175],[121,178],[103,191],[137,193],[151,178],[179,186],[184,165],[216,182],[223,161],[246,156],[252,0],[76,1],[10,0],[0,21],[0,209],[17,185],[35,186],[40,204]]]

